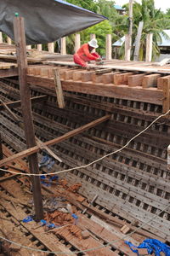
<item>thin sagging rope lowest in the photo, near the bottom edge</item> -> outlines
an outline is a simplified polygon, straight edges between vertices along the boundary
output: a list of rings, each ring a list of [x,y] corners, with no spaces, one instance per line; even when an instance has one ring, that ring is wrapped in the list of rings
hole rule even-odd
[[[170,201],[167,205],[167,207],[165,207],[163,210],[161,210],[161,212],[164,212],[167,210],[167,208],[170,207]],[[119,238],[119,239],[116,239],[116,240],[113,240],[113,241],[109,241],[107,244],[105,245],[101,245],[99,247],[93,247],[93,248],[89,248],[89,249],[86,249],[86,250],[82,250],[82,251],[77,251],[77,252],[72,252],[72,253],[64,253],[64,252],[52,252],[52,251],[45,251],[45,250],[41,250],[41,249],[36,249],[36,248],[32,248],[32,247],[26,247],[24,245],[21,245],[20,243],[18,242],[15,242],[15,241],[11,241],[11,240],[8,240],[7,238],[3,237],[3,236],[0,236],[0,239],[3,239],[4,241],[8,241],[14,245],[17,245],[19,247],[24,247],[28,250],[31,250],[31,251],[35,251],[35,252],[42,252],[42,253],[54,253],[54,254],[75,254],[75,253],[88,253],[88,252],[91,252],[91,251],[94,251],[94,250],[99,250],[101,248],[104,248],[104,247],[108,247],[110,245],[112,245],[113,243],[116,243],[117,241],[122,241],[124,239],[126,239],[127,237],[129,236],[132,236],[134,233],[136,233],[138,230],[141,230],[145,225],[149,224],[151,221],[153,221],[154,219],[156,219],[157,217],[159,217],[159,215],[161,214],[161,212],[159,212],[158,214],[156,214],[156,216],[154,216],[153,218],[150,218],[150,220],[148,220],[146,223],[142,224],[139,228],[137,228],[136,230],[133,230],[130,234],[128,234],[127,236],[124,236],[122,238]]]

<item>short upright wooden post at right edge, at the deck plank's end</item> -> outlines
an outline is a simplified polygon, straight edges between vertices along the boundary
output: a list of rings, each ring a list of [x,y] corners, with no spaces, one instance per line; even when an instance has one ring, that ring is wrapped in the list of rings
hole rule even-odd
[[[163,79],[163,106],[162,112],[167,113],[170,109],[170,79]]]

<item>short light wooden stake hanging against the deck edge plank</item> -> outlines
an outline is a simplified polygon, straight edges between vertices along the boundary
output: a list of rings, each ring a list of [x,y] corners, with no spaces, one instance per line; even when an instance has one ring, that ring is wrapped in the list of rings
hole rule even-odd
[[[55,91],[56,91],[56,95],[57,95],[57,101],[58,101],[59,108],[65,108],[65,100],[64,100],[64,96],[63,96],[63,89],[61,86],[61,81],[59,78],[59,70],[54,69],[53,72],[54,72],[54,86],[55,86]]]

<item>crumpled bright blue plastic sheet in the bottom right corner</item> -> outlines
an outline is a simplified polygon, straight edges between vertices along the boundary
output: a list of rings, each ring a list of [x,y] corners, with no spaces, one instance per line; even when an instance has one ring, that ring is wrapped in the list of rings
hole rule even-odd
[[[125,243],[130,247],[133,253],[137,253],[139,256],[140,248],[145,248],[148,251],[148,254],[155,253],[156,256],[161,256],[160,253],[165,253],[166,256],[170,256],[170,247],[167,246],[162,241],[156,239],[145,239],[139,247],[134,246],[130,241],[125,241]]]

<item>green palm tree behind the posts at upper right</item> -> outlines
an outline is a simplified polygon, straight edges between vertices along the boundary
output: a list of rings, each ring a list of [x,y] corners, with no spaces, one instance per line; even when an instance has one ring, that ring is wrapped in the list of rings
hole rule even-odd
[[[128,5],[124,6],[128,11]],[[165,29],[170,28],[170,20],[161,12],[161,9],[155,8],[154,0],[142,0],[142,3],[133,3],[133,43],[135,41],[139,22],[144,21],[144,27],[140,42],[139,60],[144,61],[146,49],[146,36],[148,33],[153,33],[153,51],[152,58],[160,54],[158,44],[161,43],[161,36],[168,38],[167,34],[163,32]],[[127,26],[122,24],[120,27],[124,28],[127,33]],[[122,49],[121,49],[122,50]]]

